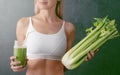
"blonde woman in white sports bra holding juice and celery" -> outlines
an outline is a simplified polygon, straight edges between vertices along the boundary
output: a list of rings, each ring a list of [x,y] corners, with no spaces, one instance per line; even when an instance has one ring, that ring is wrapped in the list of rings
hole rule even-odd
[[[35,16],[18,21],[16,36],[20,44],[27,45],[26,75],[64,75],[61,58],[72,47],[75,27],[62,19],[62,0],[35,0]],[[88,53],[86,61],[94,52]],[[11,56],[11,69],[14,72],[24,70],[15,66],[16,57]]]

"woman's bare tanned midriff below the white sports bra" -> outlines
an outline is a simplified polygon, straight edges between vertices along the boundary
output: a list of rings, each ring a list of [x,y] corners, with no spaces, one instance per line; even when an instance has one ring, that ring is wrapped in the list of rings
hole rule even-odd
[[[26,75],[64,75],[64,66],[59,60],[32,59],[27,66]]]

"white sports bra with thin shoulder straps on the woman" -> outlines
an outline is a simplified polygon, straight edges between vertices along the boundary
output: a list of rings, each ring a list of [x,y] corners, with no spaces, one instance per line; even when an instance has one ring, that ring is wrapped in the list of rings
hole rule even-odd
[[[25,39],[27,58],[61,60],[67,48],[64,24],[65,21],[63,21],[61,29],[55,34],[43,34],[35,30],[30,17]]]

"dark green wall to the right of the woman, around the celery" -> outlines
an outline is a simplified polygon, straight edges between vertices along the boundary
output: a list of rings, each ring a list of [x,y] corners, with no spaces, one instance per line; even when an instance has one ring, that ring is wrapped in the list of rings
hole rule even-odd
[[[74,45],[86,36],[85,29],[92,26],[95,17],[115,19],[120,31],[120,0],[65,0],[65,20],[76,27]],[[88,62],[68,71],[65,75],[120,75],[120,38],[106,42]]]

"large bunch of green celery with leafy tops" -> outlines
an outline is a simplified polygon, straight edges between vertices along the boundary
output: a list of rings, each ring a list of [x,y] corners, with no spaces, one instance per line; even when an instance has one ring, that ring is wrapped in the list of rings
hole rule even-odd
[[[107,17],[95,18],[95,20],[94,28],[86,29],[87,36],[63,56],[62,63],[67,69],[72,70],[80,66],[89,51],[94,51],[109,39],[119,36],[115,20],[109,20]]]

